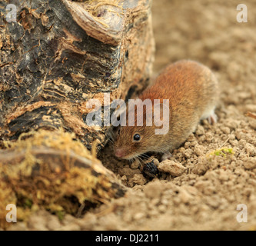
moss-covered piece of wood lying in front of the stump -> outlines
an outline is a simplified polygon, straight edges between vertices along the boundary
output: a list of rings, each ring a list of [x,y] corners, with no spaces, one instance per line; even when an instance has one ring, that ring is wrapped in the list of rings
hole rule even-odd
[[[30,211],[84,214],[88,208],[125,194],[126,188],[95,156],[64,131],[34,131],[0,150],[0,228],[5,207],[18,207],[18,220]]]

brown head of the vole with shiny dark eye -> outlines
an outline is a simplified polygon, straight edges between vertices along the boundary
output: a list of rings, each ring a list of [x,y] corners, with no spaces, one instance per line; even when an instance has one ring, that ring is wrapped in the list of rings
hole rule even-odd
[[[128,111],[126,125],[118,128],[115,138],[114,151],[118,158],[132,159],[148,151],[166,151],[162,145],[169,130],[169,114],[163,115],[166,111],[163,112],[162,106],[159,109],[161,117],[157,113],[154,114],[155,109],[151,109],[152,114],[147,115],[145,108],[141,113],[136,108],[133,111],[135,112],[134,125],[128,120],[129,113],[132,114],[131,111]],[[137,117],[138,115],[140,117]],[[152,123],[150,124],[150,122]],[[159,134],[159,129],[164,129],[162,134]]]

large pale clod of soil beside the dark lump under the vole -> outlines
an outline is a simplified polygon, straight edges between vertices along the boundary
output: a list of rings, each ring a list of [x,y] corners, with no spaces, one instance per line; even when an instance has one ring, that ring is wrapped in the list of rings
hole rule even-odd
[[[161,161],[158,165],[159,171],[168,172],[171,176],[175,177],[182,175],[186,169],[180,163],[170,160]]]

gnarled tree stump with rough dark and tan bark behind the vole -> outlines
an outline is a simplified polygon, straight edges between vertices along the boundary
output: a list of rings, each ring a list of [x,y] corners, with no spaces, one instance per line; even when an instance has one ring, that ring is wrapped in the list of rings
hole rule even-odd
[[[0,3],[0,137],[62,127],[87,148],[96,138],[103,145],[106,129],[85,124],[85,105],[104,92],[124,99],[147,85],[151,0],[16,1],[10,23],[8,3]]]

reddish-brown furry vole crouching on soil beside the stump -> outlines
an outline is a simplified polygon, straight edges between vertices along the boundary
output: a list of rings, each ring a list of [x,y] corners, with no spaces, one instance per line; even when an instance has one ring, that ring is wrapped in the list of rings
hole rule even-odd
[[[128,126],[127,117],[127,125],[120,128],[114,145],[115,154],[125,159],[148,151],[172,151],[186,141],[201,119],[213,119],[218,101],[218,81],[209,68],[198,62],[175,62],[165,68],[138,98],[142,101],[150,99],[152,104],[154,99],[170,100],[169,131],[165,135],[155,135],[155,128],[159,127],[154,123],[145,125],[145,110],[143,126],[136,126],[136,118],[135,126]],[[136,133],[141,135],[140,141],[134,141]]]

